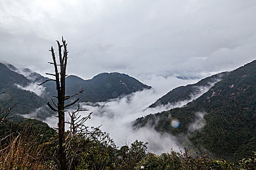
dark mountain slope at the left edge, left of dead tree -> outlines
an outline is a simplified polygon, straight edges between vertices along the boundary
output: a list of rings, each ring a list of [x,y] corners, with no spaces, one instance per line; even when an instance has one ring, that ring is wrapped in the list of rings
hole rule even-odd
[[[12,66],[12,69],[14,69],[14,66]],[[9,105],[16,104],[16,107],[12,109],[12,113],[15,112],[15,114],[28,114],[45,105],[47,100],[43,97],[38,96],[34,92],[18,88],[17,84],[20,86],[27,86],[31,81],[24,75],[12,71],[12,69],[3,63],[0,63],[0,92],[5,92],[0,95],[0,102],[9,101],[13,98]],[[50,112],[50,110],[46,110],[41,116],[50,116]]]

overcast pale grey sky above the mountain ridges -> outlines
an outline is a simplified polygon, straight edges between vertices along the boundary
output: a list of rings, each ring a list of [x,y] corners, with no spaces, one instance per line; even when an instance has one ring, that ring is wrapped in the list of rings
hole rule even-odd
[[[1,0],[0,61],[51,72],[68,42],[68,73],[204,76],[256,59],[255,0]]]

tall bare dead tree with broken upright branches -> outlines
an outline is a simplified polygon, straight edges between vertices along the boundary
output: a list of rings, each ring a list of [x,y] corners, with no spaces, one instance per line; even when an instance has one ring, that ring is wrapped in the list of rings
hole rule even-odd
[[[53,96],[57,99],[58,103],[54,102],[54,99],[51,99],[52,103],[47,103],[47,105],[50,107],[51,110],[54,112],[58,112],[58,145],[59,145],[59,153],[58,153],[58,161],[59,161],[59,169],[66,170],[66,154],[65,154],[65,148],[64,148],[64,132],[65,132],[65,109],[67,107],[70,107],[77,103],[79,99],[75,99],[72,103],[69,103],[65,105],[65,101],[68,99],[71,99],[75,95],[78,95],[79,93],[82,93],[83,90],[80,90],[78,93],[75,93],[75,95],[65,95],[65,79],[66,79],[66,67],[68,62],[68,50],[67,50],[67,44],[66,41],[64,41],[62,37],[62,44],[60,44],[59,41],[56,41],[58,44],[58,63],[55,58],[55,53],[53,50],[53,46],[51,46],[51,52],[53,62],[49,62],[50,64],[54,65],[54,74],[52,73],[46,73],[47,75],[54,76],[53,79],[48,79],[42,82],[41,84],[38,84],[39,86],[44,84],[45,82],[54,81],[56,83],[56,90],[58,92],[57,96]],[[63,54],[62,54],[62,48]]]

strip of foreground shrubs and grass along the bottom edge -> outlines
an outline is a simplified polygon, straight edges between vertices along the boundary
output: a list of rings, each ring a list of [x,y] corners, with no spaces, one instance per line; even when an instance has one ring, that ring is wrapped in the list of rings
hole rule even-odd
[[[9,131],[9,126],[1,129]],[[23,128],[21,128],[23,127]],[[52,133],[49,138],[41,135],[41,129],[52,129],[38,120],[24,120],[20,124],[12,122],[16,135],[11,135],[5,144],[0,144],[0,169],[58,169],[58,136]],[[47,134],[47,133],[44,133]],[[3,139],[3,138],[1,138]],[[108,133],[98,133],[95,137],[87,135],[69,137],[66,132],[67,156],[71,156],[70,169],[255,169],[256,153],[251,157],[234,164],[226,160],[214,160],[205,154],[191,155],[184,152],[163,153],[156,155],[147,153],[147,143],[135,141],[131,146],[121,146],[119,149],[113,143]],[[69,149],[71,148],[71,149]],[[70,159],[68,159],[70,162]]]

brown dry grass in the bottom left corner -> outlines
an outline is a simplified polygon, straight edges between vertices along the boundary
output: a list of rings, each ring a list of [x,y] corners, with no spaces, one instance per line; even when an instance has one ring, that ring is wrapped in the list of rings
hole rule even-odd
[[[44,159],[41,137],[25,128],[0,145],[0,169],[51,169]]]

